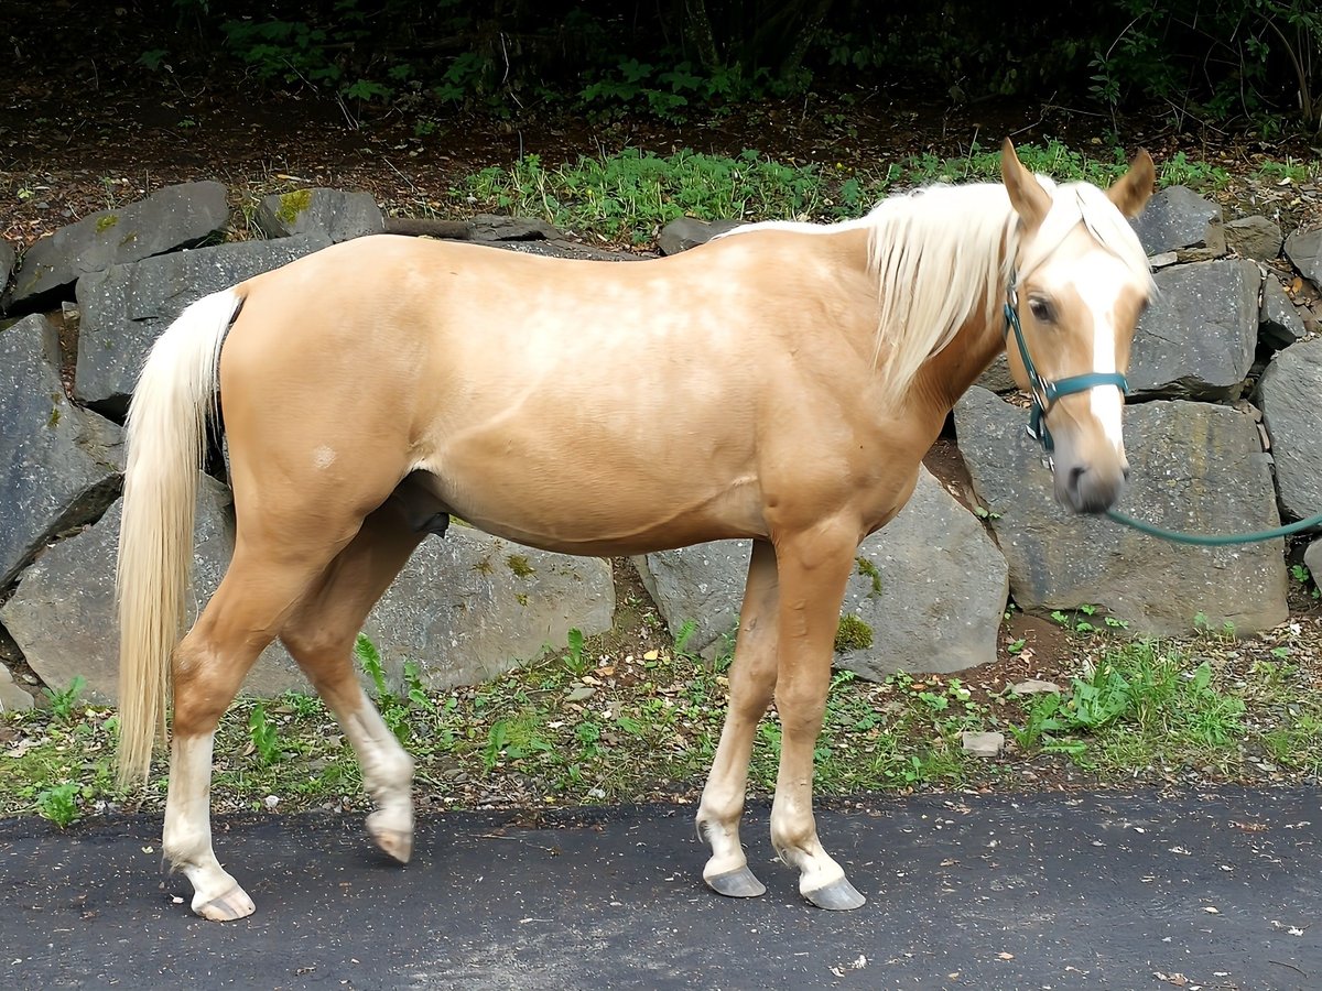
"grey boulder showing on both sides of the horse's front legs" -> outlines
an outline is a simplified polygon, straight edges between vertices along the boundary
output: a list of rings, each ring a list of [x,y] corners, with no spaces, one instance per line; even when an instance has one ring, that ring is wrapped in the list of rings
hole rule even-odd
[[[673,633],[695,624],[694,650],[734,633],[748,540],[722,540],[635,558]],[[858,551],[836,663],[880,680],[896,670],[960,671],[995,659],[1007,569],[981,523],[925,468],[914,497]],[[870,642],[867,642],[870,641]]]

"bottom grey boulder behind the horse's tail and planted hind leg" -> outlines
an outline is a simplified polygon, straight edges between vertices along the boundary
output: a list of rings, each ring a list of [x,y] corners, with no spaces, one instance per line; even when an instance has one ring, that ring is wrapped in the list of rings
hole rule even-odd
[[[87,698],[95,703],[118,698],[115,559],[122,506],[116,501],[95,526],[46,551],[0,606],[0,622],[41,680],[63,687],[82,675]],[[229,490],[202,476],[193,544],[193,599],[198,605],[210,599],[229,567],[230,514]],[[196,610],[189,622],[194,616]],[[243,692],[272,696],[288,688],[308,691],[308,683],[288,654],[272,645],[249,674]]]

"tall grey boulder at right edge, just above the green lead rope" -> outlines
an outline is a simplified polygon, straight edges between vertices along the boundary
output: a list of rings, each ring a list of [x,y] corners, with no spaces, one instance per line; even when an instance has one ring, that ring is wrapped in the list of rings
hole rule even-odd
[[[1322,340],[1278,351],[1257,383],[1272,439],[1276,488],[1288,517],[1322,513]]]

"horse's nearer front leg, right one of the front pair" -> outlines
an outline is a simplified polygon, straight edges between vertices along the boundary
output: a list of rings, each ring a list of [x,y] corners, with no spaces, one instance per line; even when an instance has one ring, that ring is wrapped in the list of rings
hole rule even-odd
[[[776,543],[781,743],[771,842],[780,859],[798,869],[798,892],[826,909],[853,909],[865,901],[822,848],[813,818],[813,749],[826,711],[839,606],[858,536],[855,527],[836,523]]]

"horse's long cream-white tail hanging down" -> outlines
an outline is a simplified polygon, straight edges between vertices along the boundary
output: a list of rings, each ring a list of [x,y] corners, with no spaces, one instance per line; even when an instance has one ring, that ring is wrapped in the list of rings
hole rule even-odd
[[[128,407],[119,530],[119,781],[136,785],[165,739],[171,654],[193,571],[193,519],[206,423],[215,412],[221,344],[237,289],[188,307],[156,341]]]

